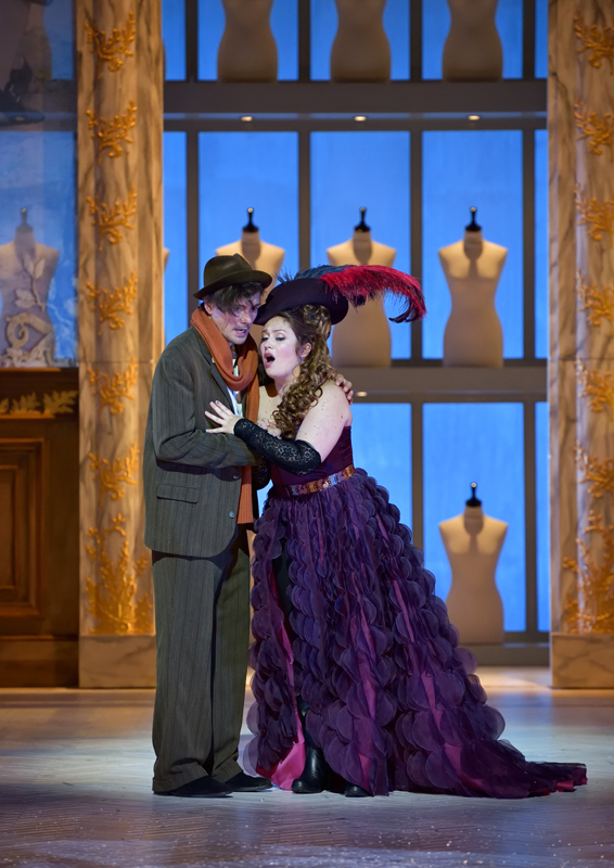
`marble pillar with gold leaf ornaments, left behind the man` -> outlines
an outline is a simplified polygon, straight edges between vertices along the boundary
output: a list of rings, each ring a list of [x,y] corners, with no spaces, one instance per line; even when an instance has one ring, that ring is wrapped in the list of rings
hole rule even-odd
[[[141,450],[163,348],[161,0],[78,0],[81,687],[155,681]]]

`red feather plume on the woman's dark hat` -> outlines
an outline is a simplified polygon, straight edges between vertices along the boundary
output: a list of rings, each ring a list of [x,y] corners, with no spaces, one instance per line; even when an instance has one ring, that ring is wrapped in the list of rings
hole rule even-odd
[[[405,298],[407,309],[398,317],[391,317],[392,322],[411,322],[426,314],[420,283],[411,275],[397,271],[396,268],[384,265],[348,265],[343,271],[321,275],[320,280],[355,307],[363,305],[368,298],[376,298],[388,292]]]

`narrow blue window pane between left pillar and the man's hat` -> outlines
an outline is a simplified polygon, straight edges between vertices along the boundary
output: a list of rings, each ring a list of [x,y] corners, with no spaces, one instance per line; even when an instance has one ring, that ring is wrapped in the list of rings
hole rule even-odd
[[[188,328],[186,133],[164,133],[164,331],[166,343]]]

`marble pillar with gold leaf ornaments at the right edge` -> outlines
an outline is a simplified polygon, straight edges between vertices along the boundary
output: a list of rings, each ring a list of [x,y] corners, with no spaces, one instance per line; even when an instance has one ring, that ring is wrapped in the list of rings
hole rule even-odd
[[[549,30],[552,684],[614,687],[614,8]]]

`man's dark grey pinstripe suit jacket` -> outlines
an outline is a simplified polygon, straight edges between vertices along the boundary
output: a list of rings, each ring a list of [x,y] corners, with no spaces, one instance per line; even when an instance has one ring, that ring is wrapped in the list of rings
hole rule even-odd
[[[232,409],[207,345],[190,327],[155,369],[145,444],[145,546],[210,558],[236,534],[241,468],[256,462],[233,434],[206,434],[210,400]]]

